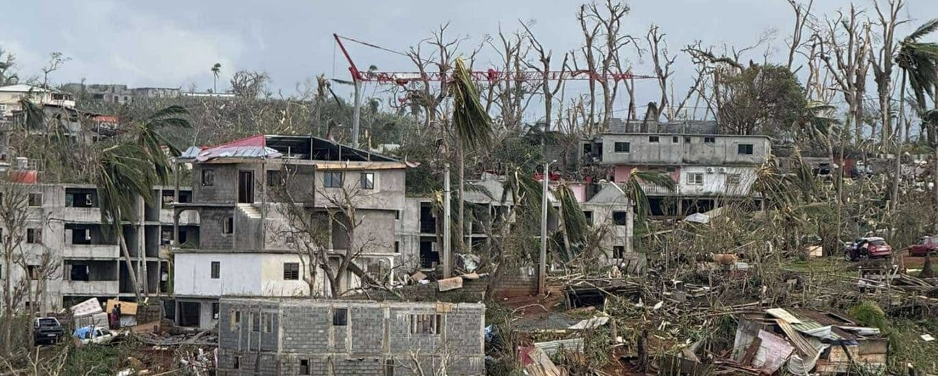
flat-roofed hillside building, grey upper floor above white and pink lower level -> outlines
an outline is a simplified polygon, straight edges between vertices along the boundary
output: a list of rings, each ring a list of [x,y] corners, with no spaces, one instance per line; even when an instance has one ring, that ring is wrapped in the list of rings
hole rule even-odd
[[[673,191],[643,188],[653,216],[679,217],[750,198],[771,149],[766,136],[719,134],[712,122],[619,124],[582,145],[587,162],[613,167],[615,182],[626,181],[634,169],[670,175]]]

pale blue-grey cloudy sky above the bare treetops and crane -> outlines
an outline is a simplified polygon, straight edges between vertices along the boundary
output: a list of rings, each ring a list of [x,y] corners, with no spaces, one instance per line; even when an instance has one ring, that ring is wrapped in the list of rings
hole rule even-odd
[[[8,0],[11,1],[11,0]],[[54,83],[127,83],[200,90],[212,86],[210,68],[221,63],[219,89],[227,88],[236,70],[264,70],[274,92],[295,94],[296,83],[325,73],[347,79],[347,64],[335,49],[332,33],[404,51],[428,38],[440,23],[452,35],[468,37],[466,51],[487,34],[519,28],[533,21],[533,31],[555,56],[578,47],[580,27],[574,13],[581,1],[563,0],[407,0],[407,1],[116,1],[30,0],[3,8],[0,48],[16,55],[20,75],[38,75],[49,53],[71,60],[53,73]],[[816,0],[818,14],[849,6],[847,0]],[[658,24],[673,53],[702,39],[705,44],[745,46],[768,29],[777,31],[770,48],[776,61],[786,59],[785,38],[792,28],[792,10],[785,0],[641,0],[628,2],[624,27],[643,37]],[[857,4],[869,8],[871,0]],[[938,17],[938,1],[908,0],[903,16],[913,19],[900,35],[929,18]],[[393,53],[350,45],[359,67],[410,70]],[[761,61],[764,49],[749,55]],[[496,63],[481,55],[477,68]],[[560,57],[555,57],[559,60]],[[491,64],[490,64],[491,63]],[[632,61],[636,73],[648,73],[648,62]],[[687,58],[679,55],[678,83],[687,82]],[[648,99],[658,96],[655,83],[640,83]],[[624,107],[617,103],[616,108]]]

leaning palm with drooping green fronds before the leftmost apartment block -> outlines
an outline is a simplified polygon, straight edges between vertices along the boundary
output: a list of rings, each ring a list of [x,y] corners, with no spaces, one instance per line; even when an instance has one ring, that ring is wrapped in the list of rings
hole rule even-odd
[[[108,146],[101,150],[98,157],[94,183],[98,186],[101,222],[106,223],[105,229],[117,237],[138,302],[141,301],[141,285],[130,262],[122,223],[125,219],[133,219],[137,212],[138,197],[142,197],[144,203],[154,205],[153,186],[164,184],[172,171],[163,146],[174,156],[179,155],[179,150],[159,134],[159,128],[189,127],[188,120],[176,116],[186,113],[185,109],[178,106],[153,113],[134,129],[134,142]]]

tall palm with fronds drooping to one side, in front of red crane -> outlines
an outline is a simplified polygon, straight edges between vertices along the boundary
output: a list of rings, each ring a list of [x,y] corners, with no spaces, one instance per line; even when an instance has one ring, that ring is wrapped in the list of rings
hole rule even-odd
[[[476,150],[492,140],[492,119],[478,100],[476,84],[472,82],[469,69],[466,68],[462,58],[456,59],[449,90],[453,98],[453,130],[459,139],[460,157],[459,221],[456,233],[460,248],[463,248],[465,203],[462,198],[465,193],[465,154],[467,150]]]

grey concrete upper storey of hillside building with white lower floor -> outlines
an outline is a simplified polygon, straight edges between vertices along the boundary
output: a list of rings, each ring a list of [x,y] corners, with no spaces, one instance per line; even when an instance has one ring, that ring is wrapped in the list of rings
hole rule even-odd
[[[657,143],[649,141],[658,137]],[[713,138],[713,143],[704,143]],[[676,143],[674,142],[676,140]],[[628,143],[628,153],[615,152],[615,143]],[[739,144],[751,144],[752,154],[739,154]],[[602,164],[628,165],[727,165],[762,164],[771,153],[771,142],[764,136],[678,135],[678,134],[603,134]]]

